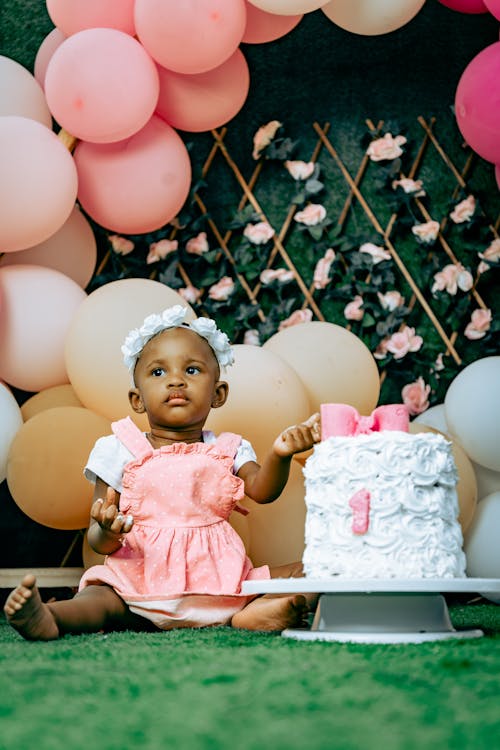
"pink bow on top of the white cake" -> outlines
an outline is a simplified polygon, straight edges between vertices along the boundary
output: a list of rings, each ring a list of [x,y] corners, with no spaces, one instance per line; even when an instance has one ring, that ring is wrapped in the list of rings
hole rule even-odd
[[[403,404],[378,406],[364,417],[350,404],[321,404],[321,439],[367,435],[370,432],[408,432],[408,410]]]

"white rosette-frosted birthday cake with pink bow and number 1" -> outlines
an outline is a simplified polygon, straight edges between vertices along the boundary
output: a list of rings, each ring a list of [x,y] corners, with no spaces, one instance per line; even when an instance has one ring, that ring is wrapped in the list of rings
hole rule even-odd
[[[406,408],[360,417],[321,406],[322,440],[304,466],[309,578],[465,576],[457,471],[439,433],[410,434]]]

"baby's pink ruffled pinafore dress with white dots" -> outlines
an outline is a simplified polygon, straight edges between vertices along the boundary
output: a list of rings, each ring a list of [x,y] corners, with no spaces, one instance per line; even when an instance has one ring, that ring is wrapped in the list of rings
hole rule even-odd
[[[130,418],[112,430],[134,456],[120,497],[134,525],[120,549],[84,573],[80,590],[108,584],[163,629],[229,622],[255,598],[241,594],[242,581],[270,578],[267,565],[253,567],[228,522],[244,496],[232,471],[241,437],[225,432],[211,445],[155,449]]]

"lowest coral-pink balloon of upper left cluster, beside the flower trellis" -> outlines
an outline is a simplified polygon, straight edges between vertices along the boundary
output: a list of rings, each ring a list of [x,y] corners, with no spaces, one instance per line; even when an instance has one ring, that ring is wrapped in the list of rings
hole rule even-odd
[[[80,142],[74,160],[82,207],[98,224],[122,234],[143,234],[167,224],[191,187],[186,146],[159,117],[119,143]]]

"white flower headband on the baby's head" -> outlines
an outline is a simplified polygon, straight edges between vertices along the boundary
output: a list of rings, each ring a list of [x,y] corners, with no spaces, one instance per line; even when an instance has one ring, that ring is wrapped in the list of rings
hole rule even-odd
[[[148,315],[140,328],[134,328],[127,334],[122,346],[122,353],[123,361],[132,375],[137,360],[148,341],[167,328],[179,328],[181,326],[190,328],[208,341],[221,367],[228,367],[233,364],[234,355],[229,339],[223,331],[217,328],[215,320],[195,318],[186,322],[187,311],[188,308],[183,307],[183,305],[168,307],[159,315]]]

